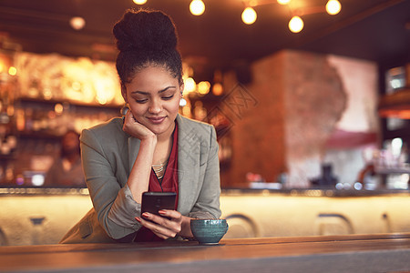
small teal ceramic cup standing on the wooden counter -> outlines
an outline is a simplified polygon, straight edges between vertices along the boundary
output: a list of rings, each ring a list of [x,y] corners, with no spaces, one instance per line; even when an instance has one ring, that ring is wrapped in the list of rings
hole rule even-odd
[[[191,219],[190,230],[201,245],[217,245],[228,231],[226,219]]]

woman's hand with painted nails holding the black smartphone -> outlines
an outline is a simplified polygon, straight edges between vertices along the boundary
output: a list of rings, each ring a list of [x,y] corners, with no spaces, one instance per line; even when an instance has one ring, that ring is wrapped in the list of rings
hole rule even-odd
[[[178,211],[168,209],[159,210],[159,214],[160,216],[157,216],[144,212],[142,217],[136,217],[136,219],[159,238],[175,238],[177,235],[183,238],[192,238],[190,217],[182,216]]]

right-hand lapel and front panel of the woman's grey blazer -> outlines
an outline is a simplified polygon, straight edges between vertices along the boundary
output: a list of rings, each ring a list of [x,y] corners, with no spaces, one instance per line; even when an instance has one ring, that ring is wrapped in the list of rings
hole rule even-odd
[[[178,115],[178,210],[188,214],[195,200],[200,166],[200,142],[196,131]],[[182,209],[187,211],[182,211]]]

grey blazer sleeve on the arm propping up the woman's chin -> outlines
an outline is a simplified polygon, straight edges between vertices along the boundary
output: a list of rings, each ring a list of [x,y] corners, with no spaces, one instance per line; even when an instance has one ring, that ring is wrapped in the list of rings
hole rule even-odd
[[[126,172],[118,170],[118,165],[122,166],[124,162],[115,153],[107,151],[108,140],[102,135],[83,130],[80,137],[83,169],[98,222],[109,237],[124,238],[141,227],[135,220],[140,215],[140,204],[133,199],[126,183],[121,187],[118,173],[126,177]],[[110,146],[116,146],[116,143],[111,142]]]

